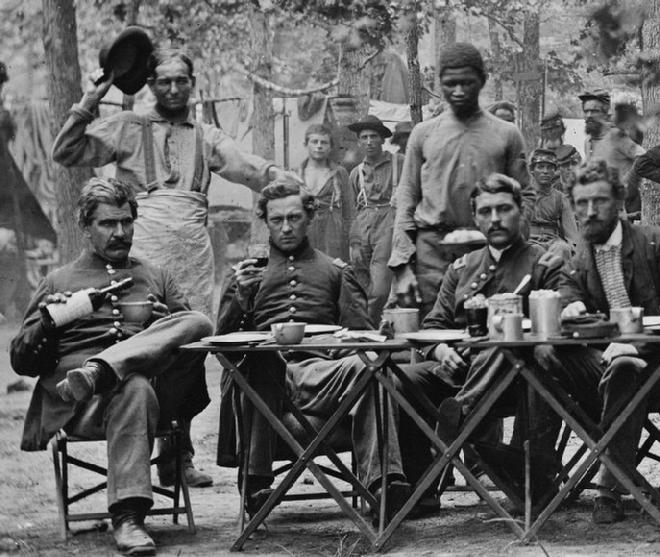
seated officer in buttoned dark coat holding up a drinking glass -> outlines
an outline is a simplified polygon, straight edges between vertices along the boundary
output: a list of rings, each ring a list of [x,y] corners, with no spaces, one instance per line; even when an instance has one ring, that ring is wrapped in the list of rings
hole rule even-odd
[[[314,249],[307,228],[314,216],[314,197],[291,180],[272,182],[263,189],[258,215],[270,233],[270,255],[266,267],[255,267],[255,259],[236,266],[222,295],[218,333],[240,329],[270,330],[273,323],[303,321],[370,329],[367,299],[351,268],[340,259]],[[329,418],[344,395],[357,381],[364,363],[356,355],[337,357],[337,350],[321,353],[296,351],[249,355],[245,365],[258,369],[251,375],[253,387],[273,409],[279,399],[273,381],[286,384],[294,403],[304,414]],[[335,353],[335,354],[333,354]],[[226,375],[223,375],[226,378]],[[220,410],[219,463],[236,462],[232,427],[231,396],[227,381]],[[373,386],[369,386],[351,410],[352,442],[360,481],[378,495],[380,458]],[[252,415],[250,462],[247,478],[247,511],[253,514],[272,490],[272,462],[276,436],[266,418]],[[401,470],[401,455],[394,417],[390,412],[388,512],[396,512],[410,494]]]

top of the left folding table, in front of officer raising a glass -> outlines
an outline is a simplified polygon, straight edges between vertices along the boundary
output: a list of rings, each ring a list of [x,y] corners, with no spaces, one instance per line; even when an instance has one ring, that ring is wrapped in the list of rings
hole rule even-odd
[[[386,340],[384,342],[314,342],[309,339],[301,344],[276,344],[274,342],[248,343],[248,344],[209,344],[206,342],[193,342],[181,346],[181,350],[192,352],[279,352],[281,350],[295,352],[314,352],[319,350],[371,350],[379,352],[382,350],[408,350],[411,344],[405,340]]]

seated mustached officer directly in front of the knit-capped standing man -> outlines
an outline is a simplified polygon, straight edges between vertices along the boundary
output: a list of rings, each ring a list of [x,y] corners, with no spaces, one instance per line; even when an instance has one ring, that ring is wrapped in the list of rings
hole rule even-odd
[[[435,305],[422,323],[424,329],[463,329],[466,326],[464,303],[477,294],[513,292],[525,275],[531,280],[520,292],[527,305],[532,290],[553,289],[559,279],[561,260],[547,254],[538,245],[521,235],[520,186],[513,178],[491,174],[472,193],[474,221],[486,236],[488,244],[464,255],[453,263],[442,280]],[[477,354],[459,353],[441,343],[421,351],[428,361],[403,366],[406,374],[418,385],[447,418],[438,428],[448,441],[457,433],[458,425],[485,394],[503,366],[507,365],[498,349]],[[401,386],[403,392],[406,389]],[[508,399],[514,398],[509,393]],[[409,400],[412,393],[407,393]],[[507,402],[511,402],[508,400]],[[515,400],[512,401],[515,406]],[[539,401],[541,406],[541,401]],[[427,417],[431,422],[431,417]],[[536,452],[552,453],[557,428],[548,430],[542,415],[532,423],[538,441]],[[492,423],[488,418],[482,423]],[[487,429],[487,428],[486,428]],[[481,430],[483,433],[483,429]],[[403,470],[410,482],[416,482],[430,465],[431,443],[404,412],[400,416],[399,442]],[[550,461],[554,461],[551,456]],[[420,500],[420,511],[437,508],[436,486]]]

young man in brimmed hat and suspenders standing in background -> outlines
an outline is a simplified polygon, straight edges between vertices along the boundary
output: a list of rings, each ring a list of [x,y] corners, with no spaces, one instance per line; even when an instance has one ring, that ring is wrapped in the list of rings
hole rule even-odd
[[[376,116],[365,116],[348,129],[357,134],[365,153],[364,160],[349,176],[351,201],[357,209],[349,239],[351,263],[367,290],[369,317],[378,325],[392,283],[392,272],[387,266],[394,226],[391,200],[404,158],[383,151],[383,143],[392,132]]]

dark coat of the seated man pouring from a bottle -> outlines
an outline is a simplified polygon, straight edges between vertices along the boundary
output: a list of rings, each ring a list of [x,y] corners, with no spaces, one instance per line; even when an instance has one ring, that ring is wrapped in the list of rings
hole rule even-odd
[[[104,260],[85,252],[74,262],[49,273],[37,288],[21,330],[10,345],[14,371],[19,375],[39,377],[25,416],[23,450],[45,449],[50,437],[73,417],[75,406],[63,401],[55,390],[55,385],[66,377],[66,372],[120,342],[121,338],[144,329],[142,324],[122,322],[118,306],[106,301],[87,317],[49,330],[41,321],[39,303],[49,294],[103,288],[111,280],[127,276],[133,277],[134,285],[118,294],[118,301],[144,300],[151,293],[167,304],[173,313],[189,309],[183,294],[166,271],[133,257],[124,265],[116,265],[114,272],[109,273]],[[117,321],[121,322],[120,327],[115,327]],[[117,335],[118,330],[121,330],[121,337]]]

